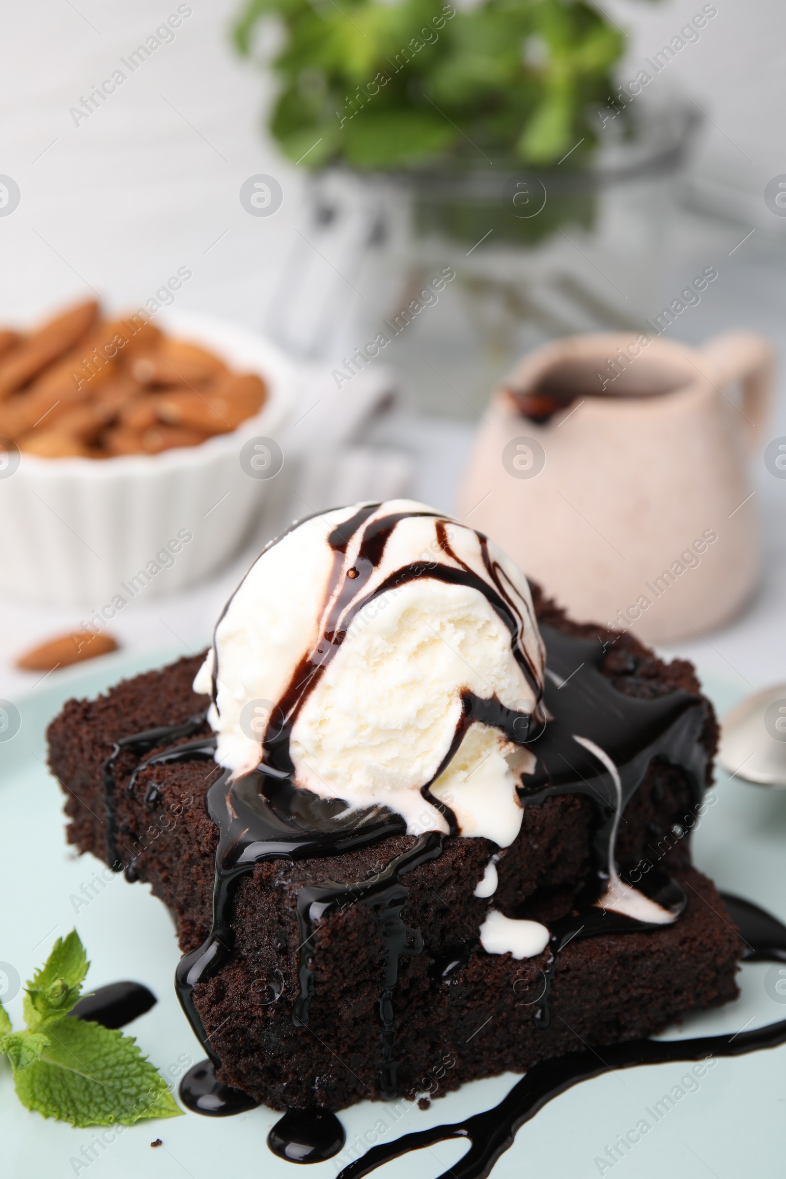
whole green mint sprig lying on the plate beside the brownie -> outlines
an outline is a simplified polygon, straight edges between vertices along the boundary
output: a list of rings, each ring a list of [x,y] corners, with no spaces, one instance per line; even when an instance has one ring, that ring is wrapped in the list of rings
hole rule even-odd
[[[11,1061],[16,1096],[28,1109],[73,1126],[131,1126],[181,1114],[132,1036],[68,1015],[88,966],[74,929],[57,940],[27,983],[27,1030],[13,1032],[0,1006],[0,1053]]]

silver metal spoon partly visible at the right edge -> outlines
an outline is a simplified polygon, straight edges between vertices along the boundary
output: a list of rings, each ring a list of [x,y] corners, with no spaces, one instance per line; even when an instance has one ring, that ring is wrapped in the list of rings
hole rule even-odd
[[[724,717],[718,760],[733,778],[786,789],[786,684],[754,692]]]

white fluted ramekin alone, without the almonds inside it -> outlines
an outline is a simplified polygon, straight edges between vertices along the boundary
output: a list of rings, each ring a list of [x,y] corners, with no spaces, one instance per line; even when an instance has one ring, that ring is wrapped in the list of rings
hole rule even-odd
[[[240,449],[280,434],[295,368],[263,337],[212,316],[161,311],[153,322],[235,369],[258,373],[267,383],[265,404],[231,434],[157,455],[21,454],[18,469],[0,479],[0,592],[101,612],[140,587],[147,599],[192,585],[251,532],[271,481],[246,473]]]

